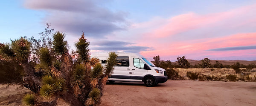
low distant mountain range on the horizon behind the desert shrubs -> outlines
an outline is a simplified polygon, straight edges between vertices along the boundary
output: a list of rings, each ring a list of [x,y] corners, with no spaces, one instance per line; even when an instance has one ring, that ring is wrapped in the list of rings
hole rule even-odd
[[[191,59],[187,59],[187,60],[189,61],[189,63],[191,65],[201,64],[201,60],[191,60]],[[160,61],[163,61],[163,60],[160,60]],[[210,63],[213,65],[213,64],[215,64],[216,61],[218,61],[219,63],[222,63],[223,65],[232,65],[236,62],[239,62],[239,63],[244,64],[244,65],[248,65],[250,63],[256,64],[256,60],[253,60],[253,61],[247,61],[247,60],[211,60]],[[172,62],[172,64],[174,64],[174,63],[177,63],[177,61]]]

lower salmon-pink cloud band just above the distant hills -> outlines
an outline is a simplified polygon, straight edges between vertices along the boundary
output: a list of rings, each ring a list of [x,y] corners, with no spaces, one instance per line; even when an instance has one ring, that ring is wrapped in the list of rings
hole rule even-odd
[[[160,55],[162,57],[173,56],[189,56],[190,59],[198,59],[202,57],[231,57],[231,56],[256,56],[256,50],[237,50],[214,52],[207,51],[215,48],[236,47],[236,46],[255,46],[256,33],[234,34],[226,37],[207,38],[198,40],[177,41],[156,45],[154,51],[141,52],[145,57],[153,57]],[[164,58],[163,58],[164,59]],[[165,59],[168,60],[168,59]],[[199,59],[200,60],[200,59]]]

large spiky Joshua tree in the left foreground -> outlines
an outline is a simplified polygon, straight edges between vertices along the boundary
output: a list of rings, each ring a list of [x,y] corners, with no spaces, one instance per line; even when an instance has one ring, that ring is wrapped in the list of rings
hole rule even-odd
[[[38,51],[40,63],[35,67],[29,64],[31,42],[26,38],[13,40],[11,45],[0,45],[1,57],[18,61],[23,66],[23,83],[20,85],[34,92],[23,98],[24,104],[55,106],[58,98],[71,106],[99,104],[103,87],[116,64],[117,54],[110,52],[107,64],[103,67],[98,63],[99,59],[90,57],[90,42],[82,34],[75,43],[77,60],[74,62],[64,37],[65,34],[61,32],[53,34],[52,48],[41,48]],[[43,75],[35,74],[37,72],[43,72]],[[52,101],[44,102],[38,97]]]

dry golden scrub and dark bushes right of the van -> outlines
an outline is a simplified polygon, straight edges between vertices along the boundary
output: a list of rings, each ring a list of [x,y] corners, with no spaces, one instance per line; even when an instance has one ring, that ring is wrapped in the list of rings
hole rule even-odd
[[[160,59],[160,57],[158,56]],[[156,58],[153,58],[154,60]],[[160,60],[157,60],[158,62]],[[222,64],[204,58],[201,63],[191,65],[185,56],[177,57],[177,62],[160,61],[157,66],[166,69],[169,79],[172,80],[210,80],[210,81],[252,81],[256,82],[256,65],[248,65],[239,62],[233,65]],[[156,61],[153,61],[156,63]]]

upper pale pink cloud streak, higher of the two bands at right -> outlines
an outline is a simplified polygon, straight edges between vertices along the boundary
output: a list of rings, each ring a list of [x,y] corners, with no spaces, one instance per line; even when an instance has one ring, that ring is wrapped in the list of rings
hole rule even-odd
[[[186,32],[193,29],[199,29],[209,26],[218,26],[219,24],[223,24],[223,21],[230,21],[233,18],[240,18],[244,16],[253,16],[255,17],[256,4],[250,6],[240,7],[238,9],[233,9],[230,11],[220,12],[220,13],[210,13],[210,14],[196,14],[193,12],[187,14],[180,14],[175,17],[171,17],[166,20],[162,20],[162,26],[158,26],[158,28],[153,31],[145,33],[150,37],[168,37],[173,36],[175,34],[179,34],[182,32]],[[243,18],[244,19],[244,18]],[[250,20],[248,20],[250,19]],[[241,20],[237,20],[241,21]],[[236,26],[241,26],[247,24],[248,22],[255,22],[256,19],[252,17],[246,17],[244,21],[240,24],[236,24]],[[157,21],[153,21],[157,22]],[[164,22],[164,23],[163,23]],[[156,23],[148,22],[148,24],[143,23],[143,25],[148,25],[155,27]],[[228,26],[228,24],[227,24]],[[138,26],[140,27],[140,26]],[[234,26],[233,26],[234,27]]]

